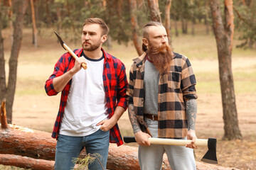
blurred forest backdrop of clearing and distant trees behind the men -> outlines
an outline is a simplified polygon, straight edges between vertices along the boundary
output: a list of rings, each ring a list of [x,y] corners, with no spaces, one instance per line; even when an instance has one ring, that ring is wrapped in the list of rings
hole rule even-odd
[[[80,35],[85,18],[102,18],[110,27],[104,48],[124,62],[129,76],[132,59],[138,56],[133,42],[130,2],[124,0],[29,1],[23,18],[23,39],[18,55],[12,123],[36,130],[52,131],[60,94],[48,97],[43,86],[53,72],[55,62],[65,52],[55,38],[53,30],[60,34],[71,49],[75,49],[81,46]],[[8,79],[9,59],[14,40],[16,2],[0,1],[0,4],[1,34],[4,38],[2,52],[5,56],[4,68]],[[150,10],[147,1],[137,0],[136,4],[137,35],[141,40],[142,27],[151,20]],[[165,23],[167,1],[158,1],[158,4],[161,21]],[[224,10],[223,3],[220,8]],[[242,134],[239,140],[222,140],[224,123],[218,53],[209,1],[172,0],[169,13],[170,40],[175,52],[186,55],[191,60],[196,74],[198,138],[218,139],[217,156],[221,166],[255,169],[256,2],[234,0],[233,9],[235,34],[232,70],[239,128]],[[119,128],[122,135],[133,135],[127,112],[119,120]],[[197,149],[196,159],[200,160],[204,152],[206,152],[205,148]]]

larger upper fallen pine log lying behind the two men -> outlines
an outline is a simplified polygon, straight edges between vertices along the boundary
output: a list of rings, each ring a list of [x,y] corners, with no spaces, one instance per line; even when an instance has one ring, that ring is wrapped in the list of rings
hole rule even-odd
[[[35,162],[36,159],[54,160],[56,140],[50,137],[49,132],[31,130],[11,124],[9,124],[9,130],[9,132],[0,130],[0,154],[16,154],[22,157],[31,157],[33,158],[31,161]],[[80,157],[86,157],[85,149],[81,152]],[[19,161],[16,160],[16,162]],[[196,162],[196,164],[197,169],[201,169],[201,167],[203,169],[216,170],[232,169],[201,162]],[[127,145],[117,147],[117,145],[111,144],[107,159],[107,169],[139,169],[137,147]],[[171,169],[166,157],[164,157],[163,169]]]

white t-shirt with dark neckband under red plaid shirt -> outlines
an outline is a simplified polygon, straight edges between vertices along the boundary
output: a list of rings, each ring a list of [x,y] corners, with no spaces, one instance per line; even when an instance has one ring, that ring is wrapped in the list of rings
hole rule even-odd
[[[86,136],[100,129],[107,119],[107,102],[103,84],[104,57],[85,57],[87,69],[80,69],[73,78],[60,126],[61,135]]]

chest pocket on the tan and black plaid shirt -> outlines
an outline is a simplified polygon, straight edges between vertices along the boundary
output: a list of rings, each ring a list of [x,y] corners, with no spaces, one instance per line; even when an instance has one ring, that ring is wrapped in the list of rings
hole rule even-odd
[[[168,72],[168,87],[170,89],[181,89],[181,72]]]

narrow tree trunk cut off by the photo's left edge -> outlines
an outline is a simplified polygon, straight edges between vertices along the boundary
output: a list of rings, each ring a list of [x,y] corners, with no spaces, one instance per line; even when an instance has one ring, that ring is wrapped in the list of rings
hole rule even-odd
[[[0,0],[0,18],[1,18],[1,0]],[[1,34],[2,22],[0,22],[0,101],[6,96],[6,73],[4,61],[4,39]]]

